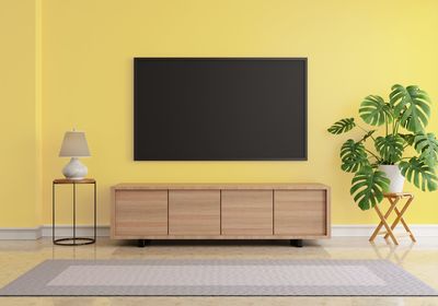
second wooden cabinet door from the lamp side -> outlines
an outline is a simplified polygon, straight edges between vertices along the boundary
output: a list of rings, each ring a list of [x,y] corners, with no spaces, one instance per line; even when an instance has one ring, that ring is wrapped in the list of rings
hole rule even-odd
[[[220,190],[170,190],[169,235],[220,235]]]

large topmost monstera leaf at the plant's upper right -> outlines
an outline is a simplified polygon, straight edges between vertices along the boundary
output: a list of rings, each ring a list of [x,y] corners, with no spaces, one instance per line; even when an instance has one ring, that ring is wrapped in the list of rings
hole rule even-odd
[[[430,117],[430,99],[418,86],[393,85],[390,103],[394,116],[401,125],[411,132],[420,132],[427,126]]]

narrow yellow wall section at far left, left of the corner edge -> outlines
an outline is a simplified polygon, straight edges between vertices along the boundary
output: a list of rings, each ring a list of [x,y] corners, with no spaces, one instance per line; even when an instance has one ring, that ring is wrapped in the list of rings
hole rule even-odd
[[[42,222],[39,8],[0,1],[1,227]]]

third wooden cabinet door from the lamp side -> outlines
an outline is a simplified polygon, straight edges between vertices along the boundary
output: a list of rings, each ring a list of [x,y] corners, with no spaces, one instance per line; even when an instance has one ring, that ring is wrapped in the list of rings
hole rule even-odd
[[[222,235],[273,235],[272,190],[222,190]]]

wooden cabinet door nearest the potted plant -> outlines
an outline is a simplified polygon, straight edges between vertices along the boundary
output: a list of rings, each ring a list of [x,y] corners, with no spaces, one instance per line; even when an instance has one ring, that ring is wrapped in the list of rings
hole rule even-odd
[[[274,226],[275,235],[325,236],[325,190],[276,190]]]

